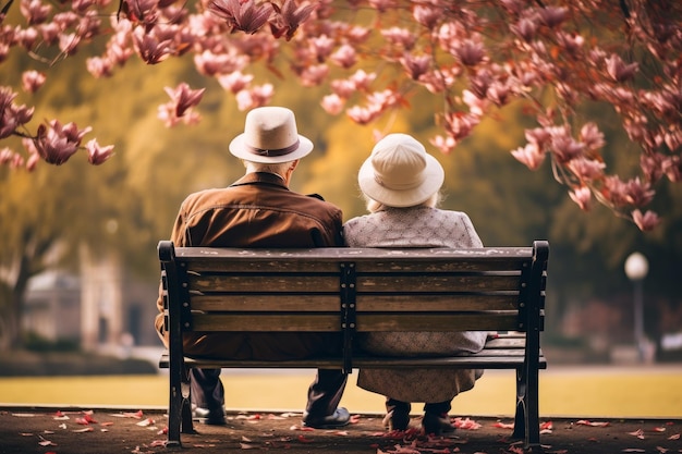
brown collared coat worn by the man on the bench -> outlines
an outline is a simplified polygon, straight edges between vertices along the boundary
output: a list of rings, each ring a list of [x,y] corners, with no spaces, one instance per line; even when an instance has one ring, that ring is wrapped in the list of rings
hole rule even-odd
[[[227,188],[191,194],[180,208],[171,241],[176,247],[342,246],[341,223],[334,205],[294,193],[278,175],[258,172]],[[168,345],[160,291],[157,307],[155,326]],[[330,353],[337,343],[337,336],[315,333],[199,333],[185,335],[184,348],[196,356],[279,359]]]

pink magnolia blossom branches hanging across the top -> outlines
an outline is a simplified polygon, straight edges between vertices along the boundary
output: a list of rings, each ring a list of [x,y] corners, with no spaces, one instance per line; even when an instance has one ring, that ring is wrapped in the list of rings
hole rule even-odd
[[[254,82],[254,66],[261,65],[304,87],[328,84],[325,109],[361,124],[434,96],[442,101],[435,113],[441,134],[431,143],[446,152],[483,119],[524,100],[536,125],[513,156],[531,169],[548,157],[582,209],[595,197],[644,231],[659,222],[642,211],[654,185],[678,182],[682,172],[682,5],[674,0],[21,0],[19,12],[13,1],[0,15],[4,53],[21,48],[53,64],[106,36],[100,56],[86,64],[98,77],[133,54],[148,64],[192,54],[198,72],[233,93],[240,109],[271,99],[272,85]],[[41,72],[22,74],[28,91],[44,81]],[[171,101],[160,110],[167,124],[198,120],[193,108],[203,89],[181,83],[167,91]],[[34,111],[16,96],[12,86],[0,90],[0,138],[29,137],[28,157],[5,148],[2,161],[29,168],[38,157],[66,161],[89,126],[52,120],[32,133]],[[600,119],[581,109],[595,102],[611,106],[636,144],[638,175],[619,176],[605,161]],[[97,142],[85,147],[92,163],[111,155]]]

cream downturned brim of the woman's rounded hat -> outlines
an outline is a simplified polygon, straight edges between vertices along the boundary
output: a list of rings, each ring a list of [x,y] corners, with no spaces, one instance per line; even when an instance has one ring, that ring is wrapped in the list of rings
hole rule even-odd
[[[375,179],[374,167],[372,165],[372,157],[363,162],[357,172],[357,183],[360,189],[367,197],[388,207],[405,208],[414,207],[429,199],[442,186],[446,173],[440,162],[430,155],[426,155],[426,169],[424,182],[410,189],[389,189]]]

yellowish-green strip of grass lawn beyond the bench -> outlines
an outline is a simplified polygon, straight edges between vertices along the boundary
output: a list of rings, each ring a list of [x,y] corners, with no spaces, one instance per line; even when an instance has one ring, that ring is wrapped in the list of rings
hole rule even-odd
[[[231,409],[301,410],[314,371],[223,371]],[[342,405],[353,413],[382,413],[383,397],[349,379]],[[282,391],[284,390],[284,391]],[[453,401],[453,415],[509,416],[513,371],[488,370],[476,388]],[[0,405],[165,407],[166,375],[0,378]],[[421,404],[413,406],[421,413]],[[540,371],[543,417],[673,418],[682,416],[682,365],[580,367]]]

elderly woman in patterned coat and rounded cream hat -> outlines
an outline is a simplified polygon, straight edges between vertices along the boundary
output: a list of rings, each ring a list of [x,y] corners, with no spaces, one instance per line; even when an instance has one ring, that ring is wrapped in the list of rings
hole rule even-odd
[[[358,172],[360,188],[369,214],[343,225],[351,247],[483,247],[468,216],[436,208],[443,169],[424,146],[406,134],[379,140]],[[466,331],[366,333],[360,346],[379,355],[466,354],[483,348],[487,333]],[[361,370],[357,384],[386,396],[389,430],[410,425],[411,402],[424,402],[426,433],[454,430],[452,398],[474,386],[483,370],[379,369]]]

